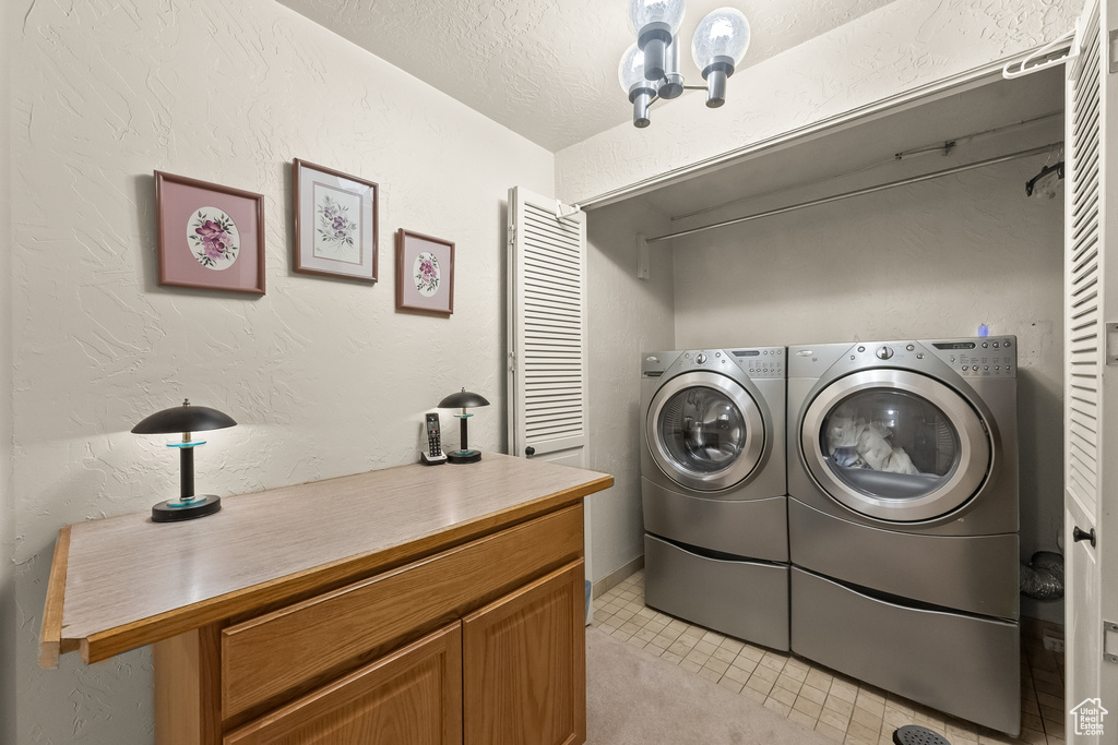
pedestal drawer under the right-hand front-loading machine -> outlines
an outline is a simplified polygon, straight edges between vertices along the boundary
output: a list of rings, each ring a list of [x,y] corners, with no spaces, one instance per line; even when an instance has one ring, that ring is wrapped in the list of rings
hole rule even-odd
[[[792,569],[792,651],[860,680],[1016,736],[1016,623],[909,608]]]

